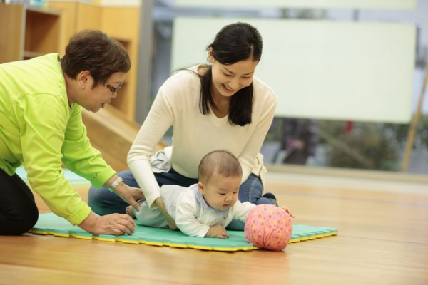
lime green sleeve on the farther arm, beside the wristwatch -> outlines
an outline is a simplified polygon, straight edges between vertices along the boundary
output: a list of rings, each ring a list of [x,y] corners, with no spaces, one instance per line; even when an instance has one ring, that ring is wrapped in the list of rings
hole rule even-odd
[[[91,146],[82,123],[81,106],[73,104],[71,112],[61,150],[63,163],[69,170],[99,188],[116,172],[106,164],[101,153]]]

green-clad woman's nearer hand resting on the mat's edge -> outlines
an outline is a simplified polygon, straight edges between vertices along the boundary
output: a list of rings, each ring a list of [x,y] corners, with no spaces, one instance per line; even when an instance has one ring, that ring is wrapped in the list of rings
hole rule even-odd
[[[78,224],[78,227],[92,234],[133,234],[136,222],[127,214],[107,214],[98,216],[91,211],[89,216]]]

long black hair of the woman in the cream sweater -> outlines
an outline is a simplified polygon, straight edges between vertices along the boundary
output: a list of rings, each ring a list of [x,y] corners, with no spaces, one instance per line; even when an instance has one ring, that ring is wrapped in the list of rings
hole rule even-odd
[[[215,36],[213,43],[207,47],[207,51],[212,51],[215,61],[225,65],[245,61],[249,58],[253,61],[260,61],[262,49],[262,36],[258,30],[250,24],[240,22],[224,26]],[[208,70],[200,78],[199,108],[203,115],[210,113],[209,105],[216,108],[211,93],[212,79],[211,66],[208,66]],[[230,124],[243,126],[251,123],[253,97],[253,82],[232,96],[228,118]]]

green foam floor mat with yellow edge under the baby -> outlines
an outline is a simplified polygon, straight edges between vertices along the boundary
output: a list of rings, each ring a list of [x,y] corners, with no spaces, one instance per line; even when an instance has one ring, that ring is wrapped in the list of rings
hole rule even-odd
[[[113,236],[108,234],[95,235],[73,226],[66,219],[53,213],[39,214],[39,221],[30,231],[32,234],[52,234],[56,237],[76,237],[78,239],[98,239],[104,242],[123,242],[127,244],[148,244],[156,246],[205,249],[223,252],[258,249],[245,240],[244,232],[228,231],[228,239],[188,237],[182,232],[171,229],[157,229],[137,224],[132,235]],[[331,237],[337,229],[330,227],[311,227],[297,224],[292,227],[290,243]]]

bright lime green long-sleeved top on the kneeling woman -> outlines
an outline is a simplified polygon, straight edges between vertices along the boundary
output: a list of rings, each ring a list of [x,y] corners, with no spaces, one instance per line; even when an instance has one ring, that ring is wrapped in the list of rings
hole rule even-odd
[[[80,105],[68,105],[59,56],[0,64],[0,169],[23,165],[49,208],[80,224],[91,208],[65,179],[61,164],[101,187],[116,172],[91,147]],[[0,187],[1,191],[1,187]]]

